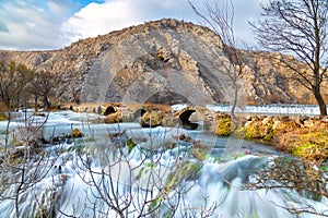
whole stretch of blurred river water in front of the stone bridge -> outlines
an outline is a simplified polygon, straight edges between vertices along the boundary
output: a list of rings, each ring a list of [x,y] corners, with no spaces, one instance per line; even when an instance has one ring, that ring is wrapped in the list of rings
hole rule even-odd
[[[327,197],[281,181],[268,181],[277,189],[247,189],[278,158],[292,159],[271,146],[178,126],[94,123],[96,114],[72,111],[31,122],[45,119],[45,137],[58,143],[1,164],[1,218],[328,216]],[[5,125],[0,122],[2,147]],[[11,141],[24,125],[21,118],[11,122]],[[65,137],[75,128],[84,137]]]

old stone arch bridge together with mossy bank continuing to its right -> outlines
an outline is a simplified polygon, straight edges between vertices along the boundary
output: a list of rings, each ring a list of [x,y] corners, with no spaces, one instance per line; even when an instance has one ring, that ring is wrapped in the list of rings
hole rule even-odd
[[[174,111],[171,106],[154,104],[82,104],[66,105],[59,109],[75,112],[95,112],[103,120],[94,122],[118,123],[138,121],[143,128],[180,126],[197,129],[218,136],[232,136],[274,146],[307,161],[328,160],[328,118],[320,116],[268,116],[215,112],[206,107],[189,106]]]

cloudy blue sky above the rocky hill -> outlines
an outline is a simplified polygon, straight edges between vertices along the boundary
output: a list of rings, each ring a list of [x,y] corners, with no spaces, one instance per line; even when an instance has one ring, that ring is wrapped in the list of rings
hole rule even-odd
[[[222,1],[222,0],[209,0]],[[255,46],[248,21],[268,0],[232,0],[238,41]],[[201,9],[202,0],[194,0]],[[149,21],[201,24],[187,0],[0,0],[0,49],[51,50]]]

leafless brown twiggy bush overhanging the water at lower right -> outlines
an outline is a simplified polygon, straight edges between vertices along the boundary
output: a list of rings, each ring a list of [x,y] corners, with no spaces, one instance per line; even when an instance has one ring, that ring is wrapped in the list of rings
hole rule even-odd
[[[254,180],[243,186],[245,190],[267,190],[274,191],[286,189],[296,191],[301,196],[315,201],[328,197],[328,178],[319,162],[309,162],[291,157],[277,157],[269,168],[259,170]],[[283,196],[282,196],[283,197]],[[279,205],[291,214],[318,215],[328,217],[327,210],[317,210],[314,205],[306,206],[284,206]]]

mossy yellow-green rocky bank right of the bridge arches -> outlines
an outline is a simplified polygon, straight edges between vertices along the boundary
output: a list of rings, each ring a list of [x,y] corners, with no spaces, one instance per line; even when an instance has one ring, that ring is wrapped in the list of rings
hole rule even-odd
[[[328,120],[325,117],[247,116],[218,118],[218,135],[233,135],[270,144],[308,161],[327,161]]]

